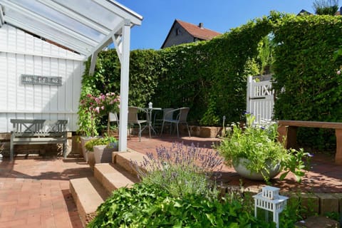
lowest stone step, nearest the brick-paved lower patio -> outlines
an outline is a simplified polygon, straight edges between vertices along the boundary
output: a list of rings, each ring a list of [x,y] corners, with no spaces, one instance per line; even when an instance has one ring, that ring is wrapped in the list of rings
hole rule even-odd
[[[95,217],[98,206],[108,198],[108,192],[103,189],[95,177],[71,179],[69,187],[78,209],[78,216],[83,227],[86,227]]]

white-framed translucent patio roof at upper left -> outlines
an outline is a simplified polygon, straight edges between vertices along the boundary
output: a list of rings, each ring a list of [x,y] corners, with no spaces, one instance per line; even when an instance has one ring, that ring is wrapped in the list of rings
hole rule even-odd
[[[0,0],[0,19],[88,57],[142,16],[110,0]],[[1,26],[1,21],[0,21]],[[116,31],[115,31],[116,29]]]

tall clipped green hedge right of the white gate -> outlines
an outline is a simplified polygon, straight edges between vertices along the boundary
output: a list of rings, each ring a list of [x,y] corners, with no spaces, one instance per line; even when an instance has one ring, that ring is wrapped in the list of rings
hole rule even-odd
[[[286,16],[274,26],[275,118],[342,121],[342,58],[333,58],[341,28],[341,16]],[[304,144],[323,148],[334,140],[333,130],[299,131]]]

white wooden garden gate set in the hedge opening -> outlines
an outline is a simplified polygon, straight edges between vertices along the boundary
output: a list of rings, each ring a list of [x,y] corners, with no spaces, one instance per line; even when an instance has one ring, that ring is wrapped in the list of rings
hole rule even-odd
[[[257,122],[273,120],[273,107],[274,90],[271,81],[255,81],[252,76],[249,76],[247,79],[247,113],[252,113]]]

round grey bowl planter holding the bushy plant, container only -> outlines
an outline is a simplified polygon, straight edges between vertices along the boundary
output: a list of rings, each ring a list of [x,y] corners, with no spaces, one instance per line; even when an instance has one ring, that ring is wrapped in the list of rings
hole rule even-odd
[[[242,177],[245,177],[250,180],[264,180],[264,177],[268,177],[269,179],[272,179],[276,175],[279,174],[281,170],[280,164],[277,165],[271,165],[271,162],[269,165],[266,165],[266,170],[261,170],[261,172],[251,172],[251,170],[247,169],[246,165],[249,164],[249,160],[246,158],[239,158],[239,161],[237,160],[233,161],[233,167],[241,175]]]

